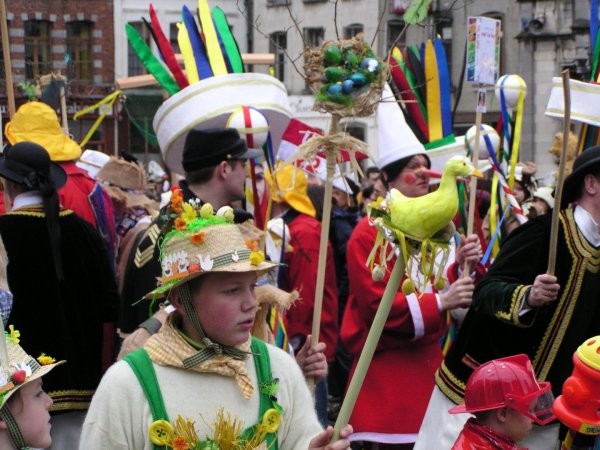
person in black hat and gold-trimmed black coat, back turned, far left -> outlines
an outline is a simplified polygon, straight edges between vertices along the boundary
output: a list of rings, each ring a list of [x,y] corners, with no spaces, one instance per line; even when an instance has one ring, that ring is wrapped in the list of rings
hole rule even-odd
[[[79,439],[103,367],[112,362],[114,337],[107,330],[119,302],[115,279],[97,231],[59,205],[57,190],[67,175],[44,148],[13,145],[0,159],[0,176],[13,201],[13,210],[0,216],[14,295],[9,317],[31,352],[72,363],[46,378],[53,440],[68,448]]]

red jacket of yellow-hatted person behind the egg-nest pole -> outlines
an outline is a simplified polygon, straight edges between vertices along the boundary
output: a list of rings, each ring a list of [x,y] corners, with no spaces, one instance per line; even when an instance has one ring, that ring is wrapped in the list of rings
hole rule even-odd
[[[319,244],[321,240],[321,224],[305,214],[299,214],[288,222],[290,245],[293,251],[287,252],[283,262],[284,285],[282,289],[296,289],[300,298],[294,302],[286,313],[288,336],[304,337],[311,334],[312,316],[315,305],[317,285],[317,267],[319,263]],[[333,265],[331,244],[327,244],[327,262],[325,267],[325,285],[323,292],[323,308],[321,312],[321,330],[319,341],[325,342],[325,356],[328,362],[335,359],[338,341],[338,300]]]

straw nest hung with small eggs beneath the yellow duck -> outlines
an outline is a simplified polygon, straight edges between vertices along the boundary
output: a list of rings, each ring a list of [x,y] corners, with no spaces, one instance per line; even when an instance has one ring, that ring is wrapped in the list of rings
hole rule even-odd
[[[402,282],[405,295],[422,293],[428,284],[436,290],[447,284],[444,268],[450,255],[450,238],[455,227],[450,222],[430,238],[407,234],[393,224],[388,202],[380,197],[368,208],[371,224],[377,228],[373,249],[367,258],[374,281],[385,277],[388,262],[394,255],[403,258],[406,278]]]

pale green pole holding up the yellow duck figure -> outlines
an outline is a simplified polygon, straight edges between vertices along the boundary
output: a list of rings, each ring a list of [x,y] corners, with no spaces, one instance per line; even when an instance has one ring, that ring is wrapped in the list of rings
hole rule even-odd
[[[396,293],[400,287],[400,281],[404,275],[404,269],[404,258],[402,254],[399,254],[396,257],[396,262],[394,263],[394,268],[390,274],[390,279],[385,287],[385,291],[383,292],[381,302],[379,303],[379,307],[375,313],[375,318],[373,319],[373,324],[371,325],[369,334],[367,335],[365,346],[360,353],[358,363],[356,364],[356,369],[354,370],[354,374],[352,375],[352,379],[348,385],[348,390],[344,396],[344,401],[342,402],[342,407],[338,414],[337,420],[335,421],[332,442],[339,439],[341,429],[348,423],[348,420],[350,419],[350,414],[354,409],[360,388],[363,385],[365,376],[367,375],[367,370],[369,369],[369,365],[371,364],[371,360],[375,354],[375,349],[377,348],[379,338],[383,332],[383,327],[385,326],[387,318],[390,315],[394,298],[396,298]],[[381,399],[382,402],[388,400],[389,399]],[[390,417],[390,420],[393,420],[393,418]]]

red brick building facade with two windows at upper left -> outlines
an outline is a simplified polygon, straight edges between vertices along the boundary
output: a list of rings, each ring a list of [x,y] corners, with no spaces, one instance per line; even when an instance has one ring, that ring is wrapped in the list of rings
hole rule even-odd
[[[62,109],[66,109],[69,131],[81,140],[98,111],[77,121],[72,120],[73,115],[114,89],[112,0],[5,0],[5,6],[17,108],[34,95],[25,86],[35,85],[40,76],[54,73],[66,77],[64,108],[57,104],[57,112],[62,117]],[[3,52],[0,57],[0,111],[6,123],[9,117]],[[56,95],[54,98],[58,101]],[[89,145],[103,151],[114,148],[112,114],[93,134]]]

